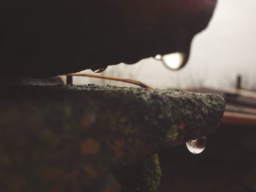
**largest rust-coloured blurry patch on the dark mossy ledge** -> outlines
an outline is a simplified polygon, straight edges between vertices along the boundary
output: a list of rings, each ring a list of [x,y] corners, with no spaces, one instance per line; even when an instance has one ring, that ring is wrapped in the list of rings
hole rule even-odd
[[[99,143],[94,139],[87,139],[80,144],[83,155],[96,155],[99,153]]]

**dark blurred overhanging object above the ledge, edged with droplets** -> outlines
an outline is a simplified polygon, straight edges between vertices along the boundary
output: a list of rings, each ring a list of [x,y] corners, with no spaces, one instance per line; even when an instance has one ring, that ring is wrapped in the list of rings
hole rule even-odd
[[[1,72],[45,77],[189,54],[216,1],[3,1]]]

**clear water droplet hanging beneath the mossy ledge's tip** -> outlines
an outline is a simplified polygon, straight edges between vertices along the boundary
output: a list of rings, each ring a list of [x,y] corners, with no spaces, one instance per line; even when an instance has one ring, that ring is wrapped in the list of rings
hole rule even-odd
[[[194,154],[202,153],[206,148],[206,137],[200,137],[199,139],[186,142],[187,149]]]

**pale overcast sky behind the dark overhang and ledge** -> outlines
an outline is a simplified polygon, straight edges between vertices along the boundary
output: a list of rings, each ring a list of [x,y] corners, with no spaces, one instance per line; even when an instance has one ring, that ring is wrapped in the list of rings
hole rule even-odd
[[[232,88],[236,76],[241,74],[244,87],[256,88],[255,10],[256,0],[219,0],[208,28],[192,42],[189,63],[178,72],[168,71],[160,61],[148,58],[131,66],[110,66],[105,74],[120,75],[121,72],[121,77],[132,77],[154,88],[224,89]]]

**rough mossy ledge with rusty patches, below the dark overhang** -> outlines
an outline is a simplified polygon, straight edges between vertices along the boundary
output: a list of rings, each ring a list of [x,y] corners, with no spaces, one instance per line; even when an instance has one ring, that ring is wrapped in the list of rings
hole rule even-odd
[[[220,96],[186,91],[1,86],[0,189],[120,191],[118,170],[213,132],[224,108]]]

